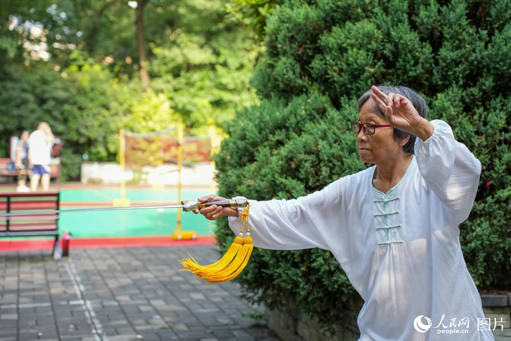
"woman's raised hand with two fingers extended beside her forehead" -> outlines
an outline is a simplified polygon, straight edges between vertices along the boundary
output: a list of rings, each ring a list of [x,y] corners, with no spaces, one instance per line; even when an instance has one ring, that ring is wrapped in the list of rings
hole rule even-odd
[[[414,134],[423,141],[431,136],[433,126],[419,115],[408,98],[394,93],[385,95],[374,85],[371,89],[371,98],[385,111],[385,117],[392,127]]]

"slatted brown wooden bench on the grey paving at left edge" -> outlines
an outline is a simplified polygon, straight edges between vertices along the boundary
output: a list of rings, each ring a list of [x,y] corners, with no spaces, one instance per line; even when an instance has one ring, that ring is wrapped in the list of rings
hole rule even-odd
[[[53,211],[59,209],[60,192],[0,192],[0,213]],[[0,217],[0,237],[54,236],[53,257],[59,259],[58,213]]]

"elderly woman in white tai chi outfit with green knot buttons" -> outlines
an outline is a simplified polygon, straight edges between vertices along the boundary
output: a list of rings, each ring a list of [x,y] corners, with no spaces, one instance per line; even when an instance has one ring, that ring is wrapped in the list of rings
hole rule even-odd
[[[459,243],[480,162],[410,88],[373,86],[357,109],[360,159],[375,166],[297,199],[249,200],[254,246],[330,250],[365,301],[360,340],[493,340]],[[241,230],[236,209],[200,213]]]

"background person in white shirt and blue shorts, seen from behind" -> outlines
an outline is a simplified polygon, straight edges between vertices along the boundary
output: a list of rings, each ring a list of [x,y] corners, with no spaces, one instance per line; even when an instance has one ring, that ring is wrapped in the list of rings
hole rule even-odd
[[[41,180],[42,190],[50,189],[50,158],[55,136],[46,122],[41,122],[29,137],[29,162],[32,164],[30,190],[35,192]]]

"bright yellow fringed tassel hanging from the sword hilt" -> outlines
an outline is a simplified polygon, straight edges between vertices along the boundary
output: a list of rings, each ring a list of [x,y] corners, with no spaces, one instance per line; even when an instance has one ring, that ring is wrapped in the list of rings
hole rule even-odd
[[[225,255],[217,262],[209,265],[200,265],[192,255],[188,254],[190,258],[181,260],[182,270],[192,271],[195,276],[210,283],[226,282],[238,276],[247,265],[253,250],[252,237],[250,237],[248,226],[249,211],[250,205],[240,215],[240,219],[243,221],[241,235],[243,235],[245,225],[247,226],[247,236],[245,238],[236,237]]]

